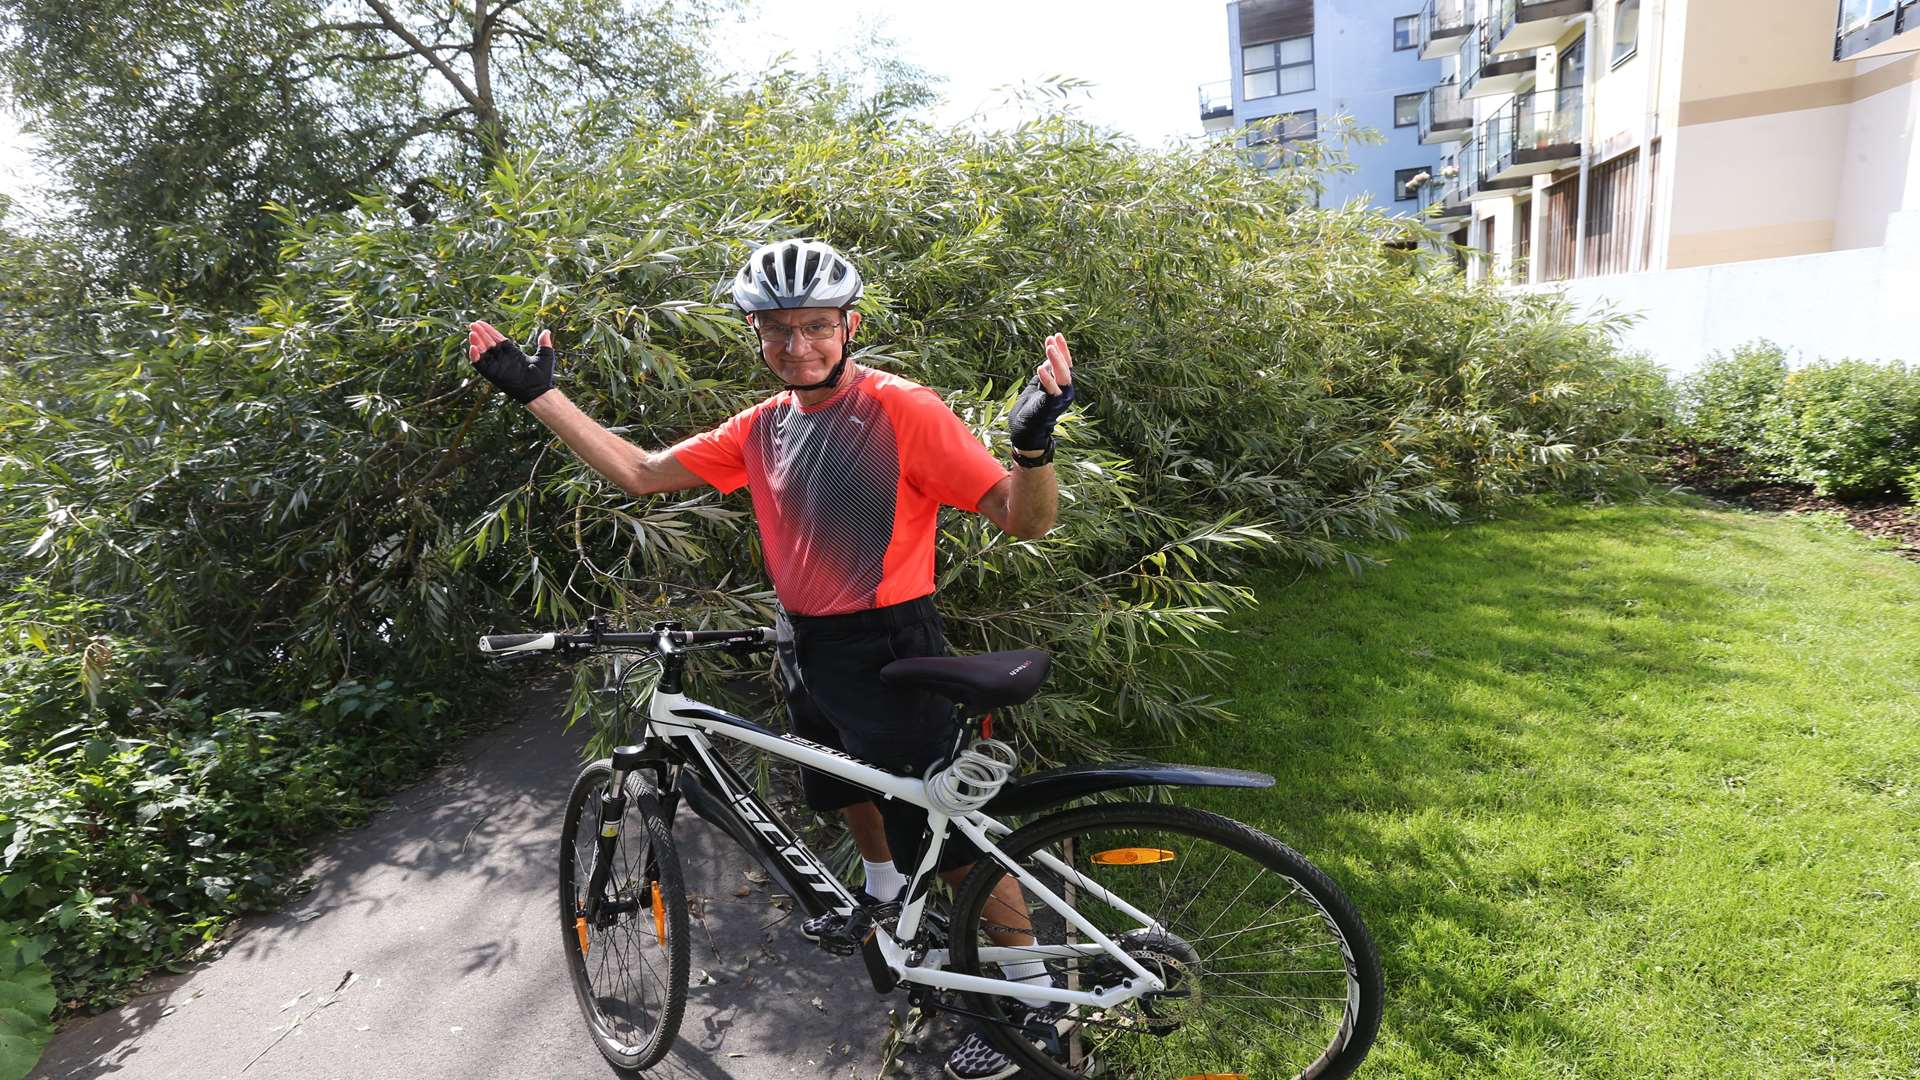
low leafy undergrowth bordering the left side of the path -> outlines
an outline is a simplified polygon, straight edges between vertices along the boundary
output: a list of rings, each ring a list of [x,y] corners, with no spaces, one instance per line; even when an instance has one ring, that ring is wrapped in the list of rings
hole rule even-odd
[[[61,1001],[104,1005],[156,961],[273,903],[300,842],[353,824],[436,759],[445,703],[342,680],[284,711],[163,694],[175,657],[98,632],[27,582],[0,605],[0,920],[54,945]]]

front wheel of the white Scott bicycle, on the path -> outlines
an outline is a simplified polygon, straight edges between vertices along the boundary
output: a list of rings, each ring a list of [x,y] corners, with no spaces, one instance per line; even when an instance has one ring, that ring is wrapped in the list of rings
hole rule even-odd
[[[593,1045],[614,1068],[641,1072],[672,1049],[687,1007],[687,896],[659,796],[643,778],[628,776],[607,896],[632,899],[636,909],[605,926],[586,926],[582,903],[597,857],[599,803],[611,782],[612,765],[593,761],[566,798],[561,938]],[[636,974],[653,978],[639,982]]]

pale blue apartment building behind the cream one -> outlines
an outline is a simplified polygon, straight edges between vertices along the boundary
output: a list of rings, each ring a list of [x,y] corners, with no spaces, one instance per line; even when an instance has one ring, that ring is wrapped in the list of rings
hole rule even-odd
[[[1377,131],[1384,142],[1350,144],[1350,173],[1325,177],[1321,206],[1365,200],[1388,213],[1415,213],[1419,188],[1405,181],[1440,163],[1417,136],[1419,102],[1440,63],[1419,54],[1419,0],[1238,0],[1227,4],[1233,79],[1200,88],[1200,119],[1213,133],[1271,144],[1329,138],[1334,117]],[[1250,123],[1260,125],[1244,133]]]

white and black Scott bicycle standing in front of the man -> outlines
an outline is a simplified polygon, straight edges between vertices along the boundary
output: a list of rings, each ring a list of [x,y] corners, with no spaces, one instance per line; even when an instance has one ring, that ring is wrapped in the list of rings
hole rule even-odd
[[[1027,1074],[1336,1080],[1379,1032],[1380,965],[1354,905],[1327,874],[1279,840],[1200,809],[1167,803],[1062,803],[1139,786],[1263,788],[1235,769],[1116,763],[1012,776],[1014,749],[993,738],[993,711],[1033,698],[1044,651],[902,659],[881,678],[954,701],[960,734],[925,778],[870,767],[695,701],[695,651],[749,655],[772,628],[495,634],[499,659],[603,653],[637,657],[659,680],[637,738],[588,763],[566,799],[559,899],[568,970],[601,1055],[643,1072],[666,1057],[687,999],[687,901],[672,821],[680,803],[741,844],[808,917],[837,911],[828,951],[860,953],[877,994],[904,986],[924,1013],[981,1020]],[[904,901],[864,907],[714,749],[745,744],[927,809]],[[1014,828],[995,815],[1043,817]],[[958,832],[983,853],[929,907],[935,867]],[[1188,872],[1190,871],[1190,872]],[[1018,888],[1004,882],[1018,882]],[[1021,911],[1023,909],[1023,911]],[[1014,982],[998,965],[1041,959],[1050,976]],[[1044,1001],[1046,1011],[1021,1003]]]

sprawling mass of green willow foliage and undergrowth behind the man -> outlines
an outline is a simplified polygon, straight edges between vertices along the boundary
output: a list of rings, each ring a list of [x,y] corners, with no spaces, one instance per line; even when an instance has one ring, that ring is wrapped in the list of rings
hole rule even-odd
[[[937,565],[956,648],[1060,655],[1016,728],[1039,761],[1231,723],[1198,640],[1248,567],[1359,567],[1413,515],[1638,480],[1644,363],[1561,302],[1390,256],[1417,223],[1315,209],[1231,146],[814,94],[507,161],[424,223],[288,215],[252,317],[134,296],[8,357],[0,917],[56,942],[65,997],[269,901],[292,846],[417,771],[488,688],[478,630],[768,617],[745,494],[618,492],[472,377],[470,319],[553,329],[566,394],[641,446],[770,392],[716,284],[774,236],[849,250],[860,359],[993,442],[1066,332],[1062,527],[952,513]]]

